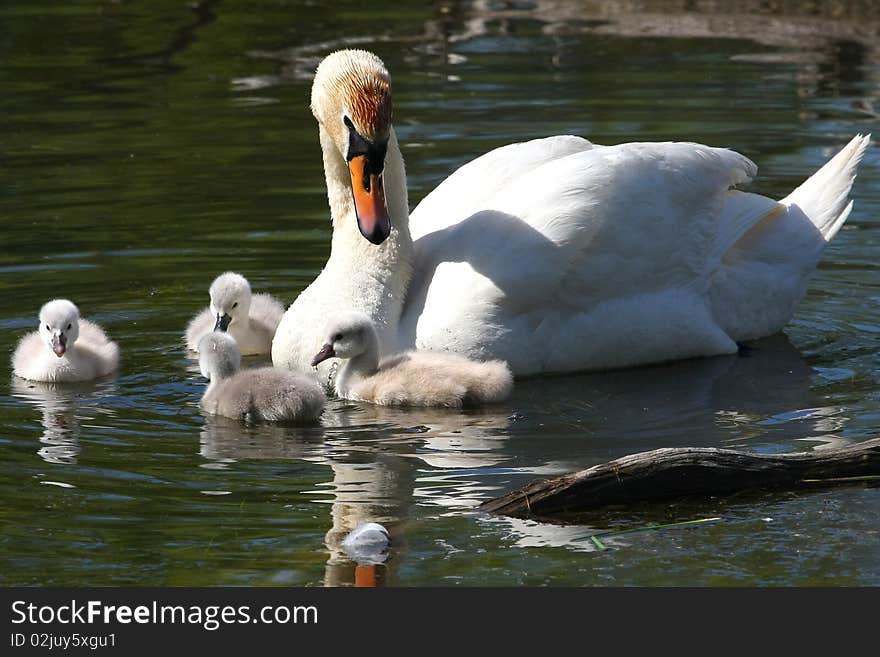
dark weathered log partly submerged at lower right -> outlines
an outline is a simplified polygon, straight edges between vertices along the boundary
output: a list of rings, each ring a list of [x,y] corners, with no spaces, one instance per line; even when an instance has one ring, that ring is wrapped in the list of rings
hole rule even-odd
[[[480,508],[517,517],[549,516],[612,504],[801,488],[815,486],[816,480],[831,483],[871,475],[880,475],[880,438],[847,447],[789,454],[755,454],[711,447],[666,448],[534,481],[484,502]]]

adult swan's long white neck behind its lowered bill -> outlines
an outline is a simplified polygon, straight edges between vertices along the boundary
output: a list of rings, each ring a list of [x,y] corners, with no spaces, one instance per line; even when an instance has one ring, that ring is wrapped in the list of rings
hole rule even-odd
[[[412,273],[413,254],[406,173],[397,137],[392,129],[383,173],[391,235],[377,246],[368,242],[358,230],[351,177],[345,160],[323,126],[320,135],[333,218],[330,259],[325,271],[357,288],[360,310],[376,324],[382,348],[388,349],[396,342],[397,323]]]

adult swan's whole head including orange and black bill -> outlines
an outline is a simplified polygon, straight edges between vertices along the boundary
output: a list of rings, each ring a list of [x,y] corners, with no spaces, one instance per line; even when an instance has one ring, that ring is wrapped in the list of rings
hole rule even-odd
[[[361,235],[381,244],[391,234],[382,172],[391,134],[391,78],[365,50],[339,50],[318,65],[312,114],[348,164]]]

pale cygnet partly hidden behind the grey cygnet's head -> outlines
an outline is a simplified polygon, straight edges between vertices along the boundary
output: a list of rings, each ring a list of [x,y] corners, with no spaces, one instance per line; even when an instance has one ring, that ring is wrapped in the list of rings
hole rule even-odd
[[[235,272],[220,274],[211,283],[211,303],[193,317],[186,329],[190,351],[211,331],[229,331],[245,356],[268,354],[284,306],[268,294],[251,294],[247,279]]]

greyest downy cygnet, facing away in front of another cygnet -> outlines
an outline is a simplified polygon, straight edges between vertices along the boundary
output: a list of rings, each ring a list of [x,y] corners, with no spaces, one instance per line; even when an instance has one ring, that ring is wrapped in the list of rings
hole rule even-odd
[[[311,379],[274,367],[239,370],[241,353],[228,333],[199,341],[199,368],[210,380],[201,407],[208,413],[250,421],[317,420],[324,391]]]

